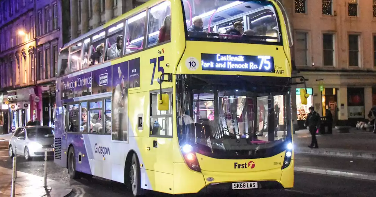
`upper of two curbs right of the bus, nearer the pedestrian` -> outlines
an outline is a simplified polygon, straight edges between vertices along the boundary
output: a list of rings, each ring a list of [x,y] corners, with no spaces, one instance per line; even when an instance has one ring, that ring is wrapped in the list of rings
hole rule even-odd
[[[375,152],[367,151],[349,151],[345,149],[311,149],[305,147],[297,147],[295,153],[310,154],[310,155],[324,155],[324,156],[338,156],[347,158],[361,158],[361,159],[376,159]]]

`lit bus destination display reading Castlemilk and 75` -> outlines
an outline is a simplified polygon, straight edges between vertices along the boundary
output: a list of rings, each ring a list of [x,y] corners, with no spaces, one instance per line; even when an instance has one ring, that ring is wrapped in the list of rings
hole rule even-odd
[[[274,72],[271,56],[243,56],[227,54],[201,54],[204,71]]]

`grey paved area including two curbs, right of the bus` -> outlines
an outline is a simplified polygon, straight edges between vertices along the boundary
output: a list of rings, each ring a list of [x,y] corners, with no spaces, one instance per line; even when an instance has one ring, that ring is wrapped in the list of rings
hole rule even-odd
[[[349,133],[317,135],[311,149],[308,130],[294,135],[295,171],[376,181],[376,134],[350,129]]]

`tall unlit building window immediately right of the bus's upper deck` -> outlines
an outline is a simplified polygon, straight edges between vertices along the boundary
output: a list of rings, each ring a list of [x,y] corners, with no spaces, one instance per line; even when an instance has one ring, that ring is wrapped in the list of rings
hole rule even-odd
[[[295,63],[298,66],[306,66],[307,65],[307,53],[308,53],[308,46],[307,46],[307,35],[306,32],[297,32],[296,33],[296,55],[295,55]]]

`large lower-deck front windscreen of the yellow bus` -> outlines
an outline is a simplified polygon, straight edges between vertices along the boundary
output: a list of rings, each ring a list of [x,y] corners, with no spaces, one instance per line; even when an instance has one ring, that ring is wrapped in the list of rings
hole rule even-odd
[[[284,81],[197,76],[177,82],[180,142],[195,144],[199,153],[212,157],[263,158],[278,152],[279,145],[291,137]]]

